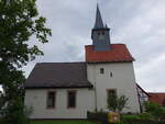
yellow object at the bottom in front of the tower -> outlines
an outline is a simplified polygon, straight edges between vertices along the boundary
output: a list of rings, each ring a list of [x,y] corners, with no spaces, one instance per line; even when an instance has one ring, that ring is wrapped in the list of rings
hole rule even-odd
[[[120,114],[117,112],[110,112],[108,114],[108,122],[110,123],[119,123],[120,122]]]

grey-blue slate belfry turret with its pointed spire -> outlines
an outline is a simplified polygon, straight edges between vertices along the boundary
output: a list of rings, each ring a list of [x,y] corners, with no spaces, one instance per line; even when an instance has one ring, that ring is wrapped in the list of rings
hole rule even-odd
[[[110,50],[110,29],[102,22],[99,7],[97,5],[96,22],[91,32],[91,40],[95,50]]]

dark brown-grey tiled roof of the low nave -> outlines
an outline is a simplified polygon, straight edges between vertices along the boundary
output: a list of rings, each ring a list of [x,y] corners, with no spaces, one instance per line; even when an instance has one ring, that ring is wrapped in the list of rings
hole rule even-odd
[[[25,81],[25,88],[91,88],[86,63],[40,63]]]

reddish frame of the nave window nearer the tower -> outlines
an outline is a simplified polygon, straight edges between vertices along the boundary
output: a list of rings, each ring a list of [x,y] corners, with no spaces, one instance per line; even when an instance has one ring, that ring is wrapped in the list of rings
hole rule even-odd
[[[75,92],[75,106],[69,106],[69,93]],[[77,106],[77,90],[68,90],[67,91],[67,109],[76,109]]]

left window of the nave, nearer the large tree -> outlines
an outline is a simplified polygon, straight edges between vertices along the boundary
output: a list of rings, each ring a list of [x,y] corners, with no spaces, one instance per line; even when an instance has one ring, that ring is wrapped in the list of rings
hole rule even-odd
[[[47,92],[47,109],[55,108],[55,101],[56,101],[56,92],[55,91],[48,91]]]

